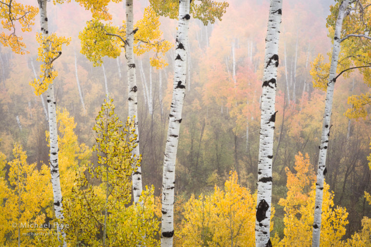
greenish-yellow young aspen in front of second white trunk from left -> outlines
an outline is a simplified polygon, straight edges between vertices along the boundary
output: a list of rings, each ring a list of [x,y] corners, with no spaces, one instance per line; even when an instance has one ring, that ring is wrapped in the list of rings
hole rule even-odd
[[[132,165],[139,165],[140,159],[131,155],[136,145],[136,138],[129,138],[133,123],[127,120],[123,127],[114,109],[112,99],[104,100],[96,117],[93,151],[97,164],[75,169],[72,194],[65,202],[68,242],[155,246],[159,222],[154,214],[154,188],[144,190],[140,198],[143,205],[130,205]]]

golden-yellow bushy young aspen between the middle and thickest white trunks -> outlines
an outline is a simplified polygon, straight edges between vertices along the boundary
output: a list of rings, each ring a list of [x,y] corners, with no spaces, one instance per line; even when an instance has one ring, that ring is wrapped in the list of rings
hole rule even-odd
[[[225,189],[218,186],[208,195],[192,194],[184,206],[178,246],[252,246],[255,242],[256,194],[237,182],[230,172]],[[274,215],[272,208],[271,217]],[[273,229],[271,224],[270,229]]]

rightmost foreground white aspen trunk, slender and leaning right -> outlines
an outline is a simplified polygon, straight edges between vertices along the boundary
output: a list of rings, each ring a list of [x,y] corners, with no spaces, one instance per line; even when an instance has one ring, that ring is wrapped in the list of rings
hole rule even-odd
[[[325,175],[327,172],[326,155],[327,155],[327,147],[329,144],[329,136],[330,136],[332,98],[333,98],[333,90],[334,90],[334,84],[335,84],[334,78],[336,76],[337,62],[338,62],[339,53],[340,53],[339,40],[340,40],[340,35],[341,35],[341,29],[343,25],[345,10],[347,9],[348,4],[349,4],[349,0],[344,0],[339,6],[339,13],[338,13],[337,20],[336,20],[335,33],[334,33],[334,39],[333,39],[333,45],[332,45],[330,75],[329,75],[329,82],[327,86],[327,93],[326,93],[326,100],[325,100],[325,113],[323,115],[322,135],[321,135],[321,143],[319,146],[319,155],[318,155],[312,247],[319,247],[320,245],[322,197],[323,197],[324,180],[325,180]]]

